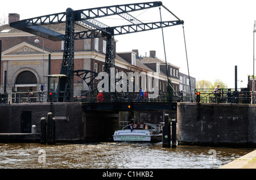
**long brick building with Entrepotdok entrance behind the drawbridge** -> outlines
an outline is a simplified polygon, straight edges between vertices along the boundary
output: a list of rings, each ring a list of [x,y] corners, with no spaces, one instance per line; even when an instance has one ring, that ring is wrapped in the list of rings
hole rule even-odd
[[[19,14],[9,14],[9,24],[19,20]],[[1,61],[1,93],[6,84],[6,91],[39,91],[44,85],[48,90],[48,74],[59,74],[63,58],[64,41],[52,41],[37,37],[27,32],[12,28],[9,24],[0,26],[2,40]],[[53,28],[53,27],[52,27]],[[65,32],[65,24],[55,26],[55,31]],[[79,31],[80,27],[75,26]],[[38,39],[37,41],[35,41]],[[115,41],[115,47],[118,45]],[[87,69],[100,73],[104,71],[106,40],[104,38],[75,41],[75,70]],[[51,55],[51,72],[48,72],[48,55]],[[179,90],[179,67],[168,64],[168,73],[174,91]],[[156,57],[155,51],[150,51],[150,57],[138,57],[138,50],[115,53],[115,73],[138,72],[158,73],[159,90],[167,89],[167,74],[165,62]],[[6,78],[6,82],[5,82]],[[139,86],[148,88],[148,83],[139,79]],[[152,82],[151,82],[152,83]],[[50,87],[51,88],[51,87]],[[82,90],[88,90],[81,78],[74,77],[74,96],[80,96]]]

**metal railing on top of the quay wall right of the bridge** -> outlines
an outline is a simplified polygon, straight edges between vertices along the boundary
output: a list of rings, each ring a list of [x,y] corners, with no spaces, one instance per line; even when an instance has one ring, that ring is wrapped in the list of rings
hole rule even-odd
[[[252,92],[247,91],[247,88],[237,89],[237,91],[235,89],[219,89],[217,92],[214,92],[214,89],[195,89],[195,94],[196,92],[200,92],[201,103],[251,103]]]

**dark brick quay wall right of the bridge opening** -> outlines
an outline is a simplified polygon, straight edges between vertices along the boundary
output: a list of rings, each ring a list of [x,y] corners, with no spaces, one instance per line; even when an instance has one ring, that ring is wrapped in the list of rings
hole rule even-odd
[[[255,104],[178,103],[179,144],[256,146]]]

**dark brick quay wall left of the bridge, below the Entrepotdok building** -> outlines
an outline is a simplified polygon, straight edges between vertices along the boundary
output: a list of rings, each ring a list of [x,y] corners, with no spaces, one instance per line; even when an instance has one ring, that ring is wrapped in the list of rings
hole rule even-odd
[[[41,132],[40,120],[47,119],[49,103],[0,104],[0,133],[20,133],[23,111],[31,111],[31,125]],[[56,118],[56,140],[84,139],[84,121],[80,103],[53,103]]]

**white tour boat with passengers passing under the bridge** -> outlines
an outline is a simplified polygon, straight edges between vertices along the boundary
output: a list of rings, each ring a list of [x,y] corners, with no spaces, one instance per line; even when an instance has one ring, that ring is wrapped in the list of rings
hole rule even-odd
[[[162,141],[161,124],[133,123],[114,132],[114,141]]]

